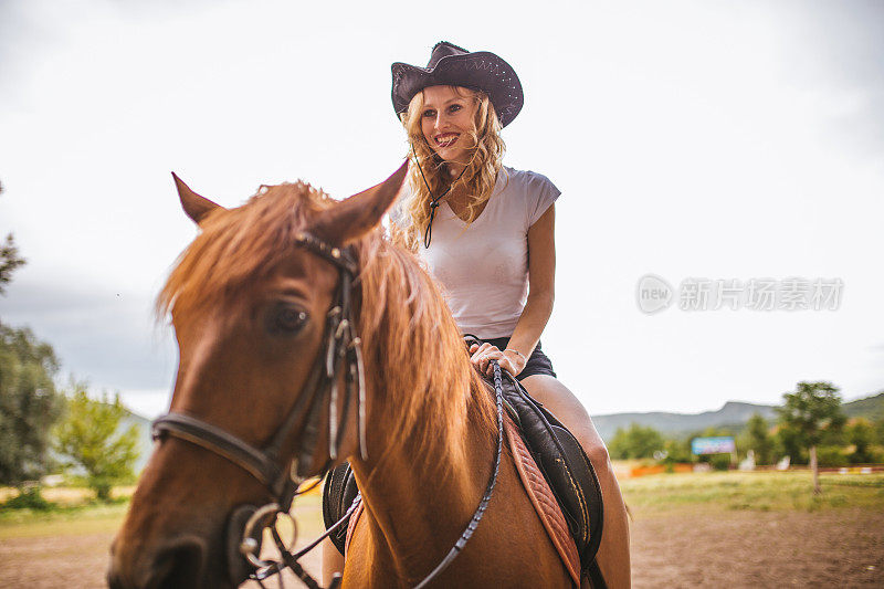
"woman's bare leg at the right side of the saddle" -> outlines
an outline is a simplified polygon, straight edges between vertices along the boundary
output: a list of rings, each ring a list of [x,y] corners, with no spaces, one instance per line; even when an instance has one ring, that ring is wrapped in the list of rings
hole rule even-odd
[[[592,462],[604,498],[602,541],[597,556],[604,582],[611,589],[630,587],[629,518],[620,485],[599,432],[589,413],[573,393],[557,379],[547,375],[526,377],[522,383],[532,397],[540,401],[577,438]]]

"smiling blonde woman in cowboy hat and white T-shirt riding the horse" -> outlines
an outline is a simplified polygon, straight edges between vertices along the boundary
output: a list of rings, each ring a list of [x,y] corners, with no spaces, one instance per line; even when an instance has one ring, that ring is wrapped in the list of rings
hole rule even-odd
[[[552,312],[559,190],[539,173],[502,166],[501,129],[523,104],[518,76],[493,53],[448,42],[433,48],[427,67],[394,63],[392,76],[411,151],[393,239],[425,262],[462,332],[483,340],[470,349],[473,364],[490,374],[497,360],[580,441],[604,496],[599,565],[609,587],[628,587],[627,512],[608,451],[540,350]],[[327,574],[343,568],[334,553],[326,550]]]

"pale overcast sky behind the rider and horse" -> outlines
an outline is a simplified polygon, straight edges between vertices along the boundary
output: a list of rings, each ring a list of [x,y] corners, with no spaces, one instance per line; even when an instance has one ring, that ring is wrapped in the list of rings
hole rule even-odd
[[[407,149],[390,64],[441,40],[519,75],[504,162],[562,191],[541,340],[591,414],[884,389],[875,1],[0,0],[0,235],[28,259],[0,320],[62,381],[161,413],[177,356],[152,305],[196,234],[169,172],[228,207],[367,188]],[[817,281],[824,308],[787,308]],[[652,291],[670,304],[646,313]]]

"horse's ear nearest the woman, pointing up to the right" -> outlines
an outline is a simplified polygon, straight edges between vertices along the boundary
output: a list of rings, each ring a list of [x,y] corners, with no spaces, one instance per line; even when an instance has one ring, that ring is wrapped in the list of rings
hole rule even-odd
[[[408,172],[408,161],[381,183],[354,194],[323,213],[312,232],[327,241],[346,245],[379,223],[383,213],[396,202]]]

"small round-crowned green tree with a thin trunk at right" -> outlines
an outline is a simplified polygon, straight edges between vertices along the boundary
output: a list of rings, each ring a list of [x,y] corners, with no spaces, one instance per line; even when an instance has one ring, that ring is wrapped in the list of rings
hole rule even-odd
[[[823,432],[840,430],[846,420],[841,410],[839,389],[831,382],[799,382],[794,392],[782,396],[783,406],[777,408],[779,422],[791,430],[810,453],[813,472],[813,493],[821,493],[817,445]]]

